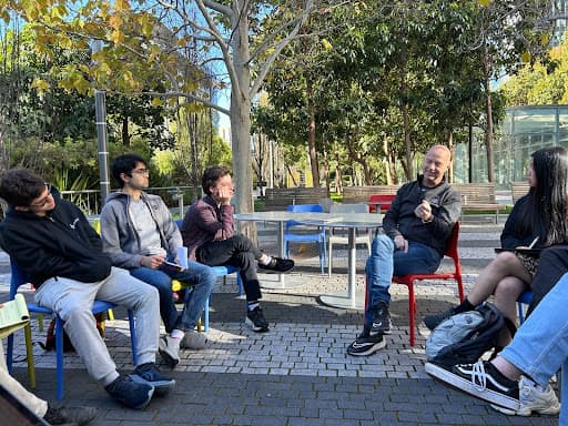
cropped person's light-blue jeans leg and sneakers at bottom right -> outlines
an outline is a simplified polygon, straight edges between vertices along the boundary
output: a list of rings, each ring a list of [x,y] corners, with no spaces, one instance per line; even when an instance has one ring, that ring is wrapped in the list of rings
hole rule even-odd
[[[548,292],[513,341],[491,361],[444,367],[427,363],[426,372],[505,413],[555,415],[560,404],[549,382],[561,367],[561,396],[568,395],[568,274]],[[568,410],[560,410],[568,425]]]

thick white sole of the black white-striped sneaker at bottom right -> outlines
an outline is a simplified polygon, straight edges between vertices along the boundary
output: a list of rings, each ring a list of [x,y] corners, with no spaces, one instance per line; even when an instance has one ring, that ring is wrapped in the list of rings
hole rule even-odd
[[[430,376],[450,385],[452,387],[455,387],[456,389],[463,390],[466,394],[475,396],[479,399],[487,400],[488,403],[498,405],[513,412],[518,412],[520,409],[520,403],[518,399],[511,398],[510,396],[505,396],[491,389],[483,388],[479,385],[475,385],[470,381],[448,372],[447,369],[439,367],[436,364],[426,363],[425,369],[426,373],[428,373]]]

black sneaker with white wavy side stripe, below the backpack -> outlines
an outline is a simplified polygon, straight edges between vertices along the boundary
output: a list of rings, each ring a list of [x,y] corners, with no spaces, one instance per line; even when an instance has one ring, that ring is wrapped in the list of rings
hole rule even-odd
[[[487,361],[453,367],[426,363],[426,373],[491,404],[514,412],[520,408],[518,382],[509,381]]]

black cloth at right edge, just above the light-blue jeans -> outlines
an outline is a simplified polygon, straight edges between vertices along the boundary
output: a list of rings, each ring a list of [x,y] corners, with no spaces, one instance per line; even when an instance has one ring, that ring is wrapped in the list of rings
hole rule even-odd
[[[532,278],[532,302],[530,302],[527,315],[530,315],[542,297],[548,294],[567,272],[568,245],[552,245],[551,247],[542,250],[537,273]]]

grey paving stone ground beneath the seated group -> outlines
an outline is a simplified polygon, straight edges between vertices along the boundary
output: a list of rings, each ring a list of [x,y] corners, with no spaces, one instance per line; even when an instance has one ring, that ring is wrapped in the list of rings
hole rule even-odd
[[[459,253],[466,287],[494,256],[500,225],[463,223]],[[261,246],[276,252],[275,230],[260,226]],[[172,395],[154,398],[143,412],[114,403],[89,378],[77,355],[65,355],[68,405],[99,408],[94,426],[102,425],[556,425],[557,417],[509,417],[488,404],[450,389],[424,372],[428,331],[422,316],[457,301],[455,284],[425,283],[416,288],[417,341],[408,344],[407,291],[392,286],[393,335],[387,346],[368,357],[351,357],[345,348],[357,335],[362,312],[318,303],[318,295],[346,291],[346,253],[334,250],[332,278],[321,275],[317,253],[297,247],[297,266],[286,275],[290,290],[264,290],[262,305],[271,332],[256,334],[244,326],[245,302],[236,283],[220,281],[212,297],[209,346],[186,351],[169,373],[176,379]],[[364,286],[365,250],[357,254],[357,287]],[[443,267],[448,267],[444,264]],[[277,275],[261,275],[263,282]],[[8,258],[0,254],[0,300],[6,300]],[[295,286],[297,285],[297,286]],[[28,296],[30,296],[28,294]],[[119,369],[131,372],[125,313],[106,323],[105,339]],[[33,324],[33,339],[44,332]],[[23,337],[17,336],[14,376],[27,384]],[[37,394],[54,400],[54,354],[34,345]],[[166,367],[163,367],[168,371]],[[1,425],[0,419],[0,425]]]

